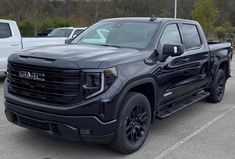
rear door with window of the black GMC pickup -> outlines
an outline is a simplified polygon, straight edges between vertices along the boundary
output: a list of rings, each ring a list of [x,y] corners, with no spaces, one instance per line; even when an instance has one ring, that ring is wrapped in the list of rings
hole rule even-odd
[[[193,92],[203,88],[209,79],[209,51],[207,42],[202,40],[197,24],[182,23],[184,55],[187,56],[187,69],[184,74],[188,76],[187,91]]]

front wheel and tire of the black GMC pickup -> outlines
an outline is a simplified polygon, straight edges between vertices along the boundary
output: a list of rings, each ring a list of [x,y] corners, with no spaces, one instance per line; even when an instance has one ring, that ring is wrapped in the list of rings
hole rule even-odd
[[[140,93],[130,92],[123,102],[118,116],[118,127],[111,148],[130,154],[145,142],[151,126],[151,107]]]

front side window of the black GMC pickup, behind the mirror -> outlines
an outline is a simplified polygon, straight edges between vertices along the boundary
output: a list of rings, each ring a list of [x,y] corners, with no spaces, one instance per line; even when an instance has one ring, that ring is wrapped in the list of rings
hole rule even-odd
[[[162,50],[165,44],[182,44],[177,24],[170,24],[165,28],[160,39],[159,49]]]

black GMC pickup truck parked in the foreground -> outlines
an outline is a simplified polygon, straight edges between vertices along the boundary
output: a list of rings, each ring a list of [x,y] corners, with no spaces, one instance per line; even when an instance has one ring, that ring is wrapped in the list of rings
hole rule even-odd
[[[19,126],[131,153],[154,118],[204,98],[220,102],[231,60],[231,44],[208,43],[195,21],[106,19],[70,44],[11,55],[5,114]]]

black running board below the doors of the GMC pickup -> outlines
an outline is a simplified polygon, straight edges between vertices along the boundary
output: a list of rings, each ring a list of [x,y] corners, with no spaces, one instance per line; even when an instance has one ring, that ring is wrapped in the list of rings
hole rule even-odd
[[[162,108],[162,110],[160,109],[160,111],[157,113],[156,117],[163,119],[166,118],[172,114],[174,114],[175,112],[197,102],[200,101],[206,97],[208,97],[210,95],[209,92],[205,92],[205,91],[201,91],[199,93],[197,93],[194,96],[189,97],[188,99],[180,102],[180,103],[173,103],[170,106],[167,106],[165,108]]]

